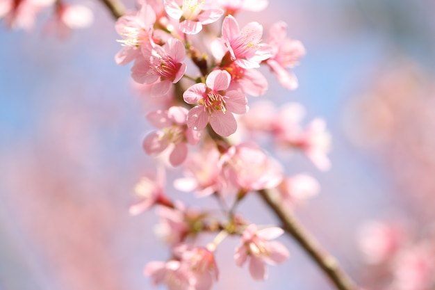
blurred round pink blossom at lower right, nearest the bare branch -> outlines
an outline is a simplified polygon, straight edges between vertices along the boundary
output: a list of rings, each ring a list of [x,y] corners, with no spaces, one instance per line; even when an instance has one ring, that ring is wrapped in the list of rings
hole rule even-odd
[[[399,227],[379,221],[365,223],[358,232],[359,248],[370,264],[391,259],[402,245],[404,234]]]

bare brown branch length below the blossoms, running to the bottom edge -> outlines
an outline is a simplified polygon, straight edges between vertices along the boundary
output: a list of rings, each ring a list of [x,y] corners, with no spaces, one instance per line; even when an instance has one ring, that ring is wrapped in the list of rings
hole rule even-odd
[[[322,246],[316,241],[309,232],[299,223],[295,216],[291,216],[281,207],[281,204],[274,202],[271,198],[272,191],[263,189],[258,191],[261,198],[272,209],[274,214],[281,220],[284,231],[293,236],[293,238],[301,245],[302,248],[309,254],[322,271],[329,277],[339,290],[356,290],[356,284],[347,276],[340,268],[338,261],[329,255]]]

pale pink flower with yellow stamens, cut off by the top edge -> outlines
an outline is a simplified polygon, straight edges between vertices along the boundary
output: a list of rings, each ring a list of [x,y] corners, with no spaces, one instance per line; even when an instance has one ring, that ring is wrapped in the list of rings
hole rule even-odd
[[[212,8],[211,0],[183,0],[181,6],[177,0],[165,0],[167,15],[180,19],[179,29],[186,34],[197,34],[202,25],[211,24],[219,19],[224,11]]]

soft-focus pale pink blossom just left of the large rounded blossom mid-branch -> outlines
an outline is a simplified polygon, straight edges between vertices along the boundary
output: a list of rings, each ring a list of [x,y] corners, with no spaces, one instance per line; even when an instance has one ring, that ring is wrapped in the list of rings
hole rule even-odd
[[[196,191],[199,196],[221,191],[224,181],[220,175],[220,152],[215,146],[205,147],[202,152],[190,155],[184,163],[186,177],[174,181],[179,191]]]

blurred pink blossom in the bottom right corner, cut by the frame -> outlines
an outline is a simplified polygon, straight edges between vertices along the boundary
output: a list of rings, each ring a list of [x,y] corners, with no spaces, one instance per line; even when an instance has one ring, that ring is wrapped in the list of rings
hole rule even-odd
[[[435,284],[433,242],[401,250],[395,259],[393,287],[397,290],[429,290]]]

